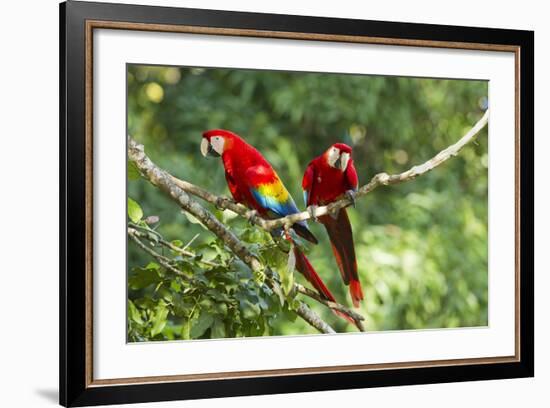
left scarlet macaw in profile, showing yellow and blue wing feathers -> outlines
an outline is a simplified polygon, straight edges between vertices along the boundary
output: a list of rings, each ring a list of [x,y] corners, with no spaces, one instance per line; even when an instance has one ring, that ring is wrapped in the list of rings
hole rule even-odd
[[[256,210],[266,218],[280,218],[299,212],[292,196],[269,162],[240,136],[228,130],[213,129],[204,132],[202,137],[201,153],[205,157],[221,156],[227,185],[235,201]],[[318,243],[305,221],[297,222],[292,229],[302,238]],[[296,245],[293,248],[296,269],[321,296],[335,302],[334,296],[303,252]]]

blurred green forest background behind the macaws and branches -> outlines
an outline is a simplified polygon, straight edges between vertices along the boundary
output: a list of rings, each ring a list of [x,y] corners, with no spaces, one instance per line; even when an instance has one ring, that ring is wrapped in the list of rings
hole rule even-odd
[[[353,146],[362,185],[454,143],[482,116],[487,95],[485,81],[129,65],[128,131],[162,168],[227,196],[222,163],[204,159],[199,144],[207,129],[232,130],[264,154],[303,209],[303,172],[332,143]],[[487,325],[487,165],[484,129],[436,170],[378,188],[348,210],[365,293],[359,312],[368,330]],[[200,234],[192,247],[203,249],[214,240],[145,180],[129,181],[128,196],[145,216],[160,217],[157,230],[166,239],[186,243]],[[246,227],[240,219],[229,222],[237,230]],[[309,258],[336,298],[351,306],[324,229],[310,227],[320,244]],[[149,261],[129,242],[130,278]],[[129,297],[154,298],[154,289],[130,288]],[[325,307],[302,300],[337,331],[355,331]],[[155,339],[180,338],[181,319],[165,317],[166,329]],[[262,333],[314,330],[277,314]],[[214,337],[203,334],[209,335]]]

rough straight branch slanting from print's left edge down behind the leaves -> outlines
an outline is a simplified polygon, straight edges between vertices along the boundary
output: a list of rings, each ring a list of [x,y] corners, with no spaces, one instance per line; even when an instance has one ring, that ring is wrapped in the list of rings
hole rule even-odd
[[[138,144],[130,136],[128,136],[128,159],[134,162],[136,167],[149,180],[149,182],[159,188],[159,190],[166,193],[172,200],[178,203],[183,210],[200,220],[206,228],[220,238],[229,250],[237,255],[254,273],[265,275],[265,266],[248,250],[245,244],[239,240],[239,238],[224,224],[222,224],[210,211],[205,209],[195,200],[191,199],[183,188],[176,185],[168,173],[157,167],[151,159],[147,157],[144,152],[143,145]],[[134,241],[136,240],[139,241],[134,237]],[[151,254],[151,250],[149,248],[145,249],[144,247],[147,248],[144,245],[141,246],[142,249]],[[163,266],[165,265],[163,264]],[[168,268],[168,266],[165,267]],[[266,280],[266,282],[272,289],[275,287],[271,279]],[[299,302],[296,313],[321,333],[335,333],[334,329],[324,322],[305,303]]]

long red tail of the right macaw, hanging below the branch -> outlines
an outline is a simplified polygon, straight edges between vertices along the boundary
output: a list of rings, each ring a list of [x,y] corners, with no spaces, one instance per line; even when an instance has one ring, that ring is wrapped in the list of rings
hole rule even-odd
[[[336,217],[325,215],[319,219],[325,226],[332,252],[336,258],[338,269],[346,285],[349,285],[349,291],[353,306],[359,307],[359,302],[363,300],[363,291],[359,276],[357,274],[357,259],[355,257],[355,247],[353,245],[353,233],[349,222],[348,213],[345,208],[338,212]]]

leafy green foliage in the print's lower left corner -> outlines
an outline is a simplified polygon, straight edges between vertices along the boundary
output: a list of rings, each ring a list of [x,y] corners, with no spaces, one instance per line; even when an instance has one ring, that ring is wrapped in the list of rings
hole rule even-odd
[[[144,222],[132,227],[151,238],[156,236],[157,243],[151,239],[145,244],[168,259],[179,273],[156,262],[131,269],[130,341],[265,336],[273,332],[278,319],[294,314],[292,298],[287,301],[266,284],[258,283],[250,269],[231,256],[219,240],[196,246],[200,254],[182,256],[176,250],[163,251],[158,243],[162,238]],[[258,231],[250,227],[240,231],[240,236],[243,240],[258,238]],[[181,241],[171,244],[182,247]],[[274,251],[278,249],[273,245],[262,246],[264,254]]]

